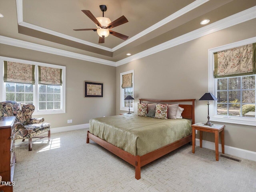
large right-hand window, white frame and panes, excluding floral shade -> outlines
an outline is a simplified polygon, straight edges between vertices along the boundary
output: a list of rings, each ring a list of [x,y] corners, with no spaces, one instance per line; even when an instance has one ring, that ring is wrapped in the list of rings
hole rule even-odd
[[[209,92],[218,101],[210,104],[210,119],[216,122],[226,122],[256,126],[256,75],[234,75],[224,78],[214,78],[214,52],[253,43],[253,39],[228,44],[209,50]]]

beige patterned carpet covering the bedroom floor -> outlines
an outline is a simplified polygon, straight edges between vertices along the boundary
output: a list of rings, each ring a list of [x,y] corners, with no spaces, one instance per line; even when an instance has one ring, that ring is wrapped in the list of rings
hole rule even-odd
[[[33,150],[16,146],[14,192],[255,192],[256,162],[226,158],[187,144],[135,169],[94,142],[86,144],[86,129],[52,134]],[[16,140],[18,144],[21,140]]]

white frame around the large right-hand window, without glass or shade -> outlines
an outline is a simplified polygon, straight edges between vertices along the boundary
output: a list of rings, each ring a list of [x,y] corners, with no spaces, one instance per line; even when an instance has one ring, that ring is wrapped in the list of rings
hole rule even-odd
[[[246,40],[234,42],[224,46],[212,48],[208,50],[208,92],[217,96],[217,79],[214,79],[214,53],[218,51],[223,51],[231,49],[234,47],[239,47],[246,44],[251,44],[256,42],[256,37],[249,38]],[[217,102],[210,101],[209,106],[210,120],[216,122],[232,123],[232,124],[241,124],[256,126],[256,118],[253,117],[241,117],[241,116],[223,116],[217,114]]]

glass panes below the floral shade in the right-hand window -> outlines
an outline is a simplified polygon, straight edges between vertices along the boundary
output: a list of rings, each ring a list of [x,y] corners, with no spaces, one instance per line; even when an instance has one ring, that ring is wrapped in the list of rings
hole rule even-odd
[[[255,118],[255,75],[215,79],[215,114]]]

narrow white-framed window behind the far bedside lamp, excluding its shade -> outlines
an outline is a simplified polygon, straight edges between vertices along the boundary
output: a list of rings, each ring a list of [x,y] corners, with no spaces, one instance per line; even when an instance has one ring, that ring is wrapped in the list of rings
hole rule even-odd
[[[130,74],[130,73],[132,73],[132,87],[122,88],[123,75]],[[129,110],[129,101],[124,100],[128,95],[134,98],[134,70],[120,73],[120,110],[121,111]],[[134,112],[134,100],[130,101],[130,111]]]

